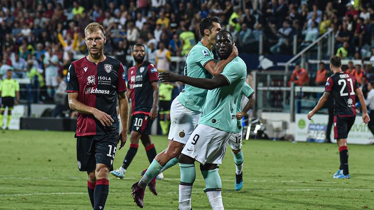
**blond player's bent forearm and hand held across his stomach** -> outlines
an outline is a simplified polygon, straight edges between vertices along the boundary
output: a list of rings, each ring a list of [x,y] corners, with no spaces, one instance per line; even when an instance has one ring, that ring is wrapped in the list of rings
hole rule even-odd
[[[90,114],[93,115],[103,126],[111,126],[114,120],[112,117],[103,112],[98,110],[95,107],[85,105],[81,102],[78,101],[78,93],[77,92],[72,92],[68,93],[68,98],[69,98],[69,107],[75,111],[78,111],[79,113],[82,114]]]

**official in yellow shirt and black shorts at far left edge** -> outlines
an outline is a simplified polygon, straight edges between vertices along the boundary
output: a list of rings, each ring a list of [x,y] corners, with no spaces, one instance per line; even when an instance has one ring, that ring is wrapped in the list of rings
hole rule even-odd
[[[12,70],[6,71],[6,78],[1,81],[0,84],[0,96],[1,96],[1,107],[0,107],[0,129],[2,129],[4,121],[5,107],[8,106],[8,115],[6,118],[6,128],[9,129],[10,119],[12,117],[12,109],[14,105],[18,105],[19,102],[19,83],[17,80],[12,79]],[[17,98],[16,98],[17,97]],[[15,101],[15,98],[17,99]]]

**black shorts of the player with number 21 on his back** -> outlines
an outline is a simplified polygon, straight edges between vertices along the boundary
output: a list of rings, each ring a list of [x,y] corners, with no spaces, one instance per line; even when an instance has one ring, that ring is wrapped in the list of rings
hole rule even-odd
[[[355,115],[335,115],[334,116],[334,139],[347,139],[348,133],[355,123]]]

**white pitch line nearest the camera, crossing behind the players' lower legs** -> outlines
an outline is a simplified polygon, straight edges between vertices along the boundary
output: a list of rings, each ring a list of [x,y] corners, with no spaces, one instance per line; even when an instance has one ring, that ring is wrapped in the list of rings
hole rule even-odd
[[[374,189],[280,189],[280,190],[249,190],[251,192],[309,192],[309,191],[374,191]],[[110,192],[110,194],[128,194],[129,192]],[[178,194],[179,192],[168,192],[167,194]],[[192,192],[194,194],[204,193],[202,191]],[[50,193],[28,193],[28,194],[0,194],[0,197],[19,197],[33,195],[75,195],[87,194],[87,192],[50,192]]]

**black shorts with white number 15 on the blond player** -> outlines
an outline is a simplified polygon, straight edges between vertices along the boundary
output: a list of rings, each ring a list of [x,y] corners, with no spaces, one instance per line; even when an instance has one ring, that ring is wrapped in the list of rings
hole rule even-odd
[[[92,172],[96,163],[105,164],[113,170],[118,134],[76,137],[76,159],[79,171]]]

